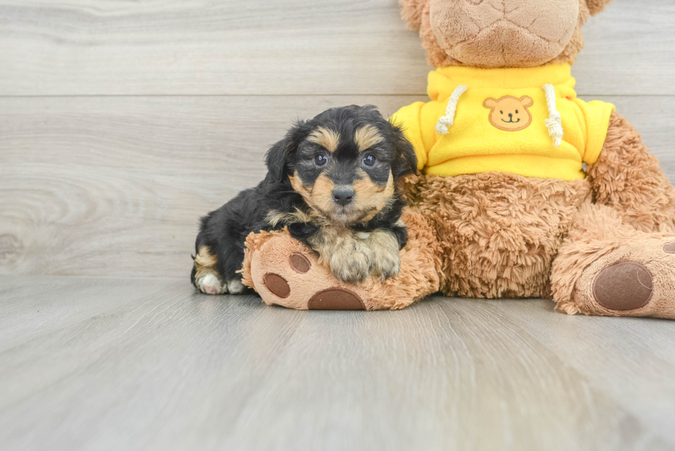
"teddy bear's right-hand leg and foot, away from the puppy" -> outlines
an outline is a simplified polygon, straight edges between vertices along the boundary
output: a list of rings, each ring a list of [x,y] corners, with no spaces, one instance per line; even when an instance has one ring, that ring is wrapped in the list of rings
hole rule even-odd
[[[583,204],[551,271],[557,309],[574,315],[675,319],[675,233],[638,231]]]

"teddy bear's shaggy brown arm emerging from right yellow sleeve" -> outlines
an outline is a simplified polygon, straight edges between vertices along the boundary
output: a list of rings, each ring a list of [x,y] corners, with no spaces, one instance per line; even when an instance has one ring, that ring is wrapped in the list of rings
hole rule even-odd
[[[675,189],[635,127],[616,112],[588,179],[595,202],[619,211],[636,229],[675,230]]]

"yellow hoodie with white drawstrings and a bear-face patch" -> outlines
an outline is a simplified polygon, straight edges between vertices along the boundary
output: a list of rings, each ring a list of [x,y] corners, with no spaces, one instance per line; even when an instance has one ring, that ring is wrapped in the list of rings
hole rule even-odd
[[[430,102],[391,117],[401,125],[425,174],[508,172],[526,177],[583,178],[597,160],[614,105],[574,92],[570,65],[429,73]]]

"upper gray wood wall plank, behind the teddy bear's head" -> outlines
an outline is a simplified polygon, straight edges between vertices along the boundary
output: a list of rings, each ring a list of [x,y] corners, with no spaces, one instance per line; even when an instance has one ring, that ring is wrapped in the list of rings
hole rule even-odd
[[[581,94],[675,94],[675,5],[585,26]],[[0,0],[0,95],[423,94],[396,0]]]

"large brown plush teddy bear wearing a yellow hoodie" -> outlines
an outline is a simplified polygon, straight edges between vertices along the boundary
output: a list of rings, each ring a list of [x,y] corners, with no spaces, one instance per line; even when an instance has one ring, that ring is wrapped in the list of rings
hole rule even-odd
[[[341,282],[287,231],[263,231],[247,238],[244,283],[298,309],[440,291],[675,319],[675,190],[614,105],[574,92],[582,25],[610,1],[402,0],[435,70],[430,100],[390,118],[418,169],[398,275]]]

